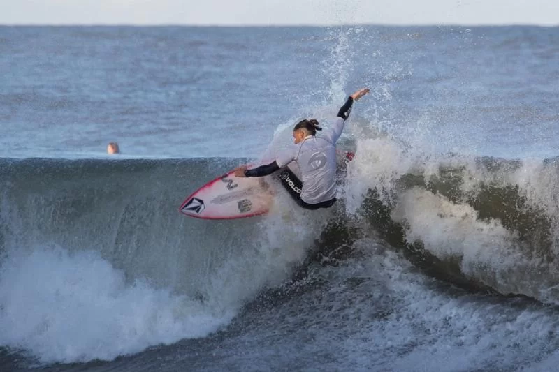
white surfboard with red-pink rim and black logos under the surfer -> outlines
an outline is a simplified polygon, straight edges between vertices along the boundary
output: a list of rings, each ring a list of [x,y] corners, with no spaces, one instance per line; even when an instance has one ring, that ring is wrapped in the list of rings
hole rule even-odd
[[[351,161],[354,154],[340,151],[340,161]],[[301,182],[289,167],[266,177],[235,177],[234,171],[223,174],[189,195],[179,207],[180,213],[209,220],[246,218],[266,214],[273,206],[277,181],[293,197],[297,197]]]

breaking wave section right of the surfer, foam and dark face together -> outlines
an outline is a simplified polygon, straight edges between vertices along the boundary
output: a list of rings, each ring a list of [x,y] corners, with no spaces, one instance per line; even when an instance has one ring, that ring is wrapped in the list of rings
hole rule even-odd
[[[559,303],[556,159],[433,155],[379,137],[357,142],[348,174],[348,211],[418,265],[445,280]]]

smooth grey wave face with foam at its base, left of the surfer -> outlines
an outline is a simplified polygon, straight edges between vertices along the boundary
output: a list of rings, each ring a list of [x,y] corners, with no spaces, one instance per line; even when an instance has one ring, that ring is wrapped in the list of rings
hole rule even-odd
[[[40,364],[110,360],[227,325],[309,244],[177,211],[242,161],[0,161],[0,345]]]

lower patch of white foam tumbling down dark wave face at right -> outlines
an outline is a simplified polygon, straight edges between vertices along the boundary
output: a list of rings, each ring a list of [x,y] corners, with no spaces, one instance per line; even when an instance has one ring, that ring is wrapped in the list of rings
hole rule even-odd
[[[504,294],[557,301],[549,292],[556,282],[555,271],[525,253],[516,232],[493,218],[479,220],[470,205],[412,188],[400,195],[391,216],[405,226],[407,241],[421,241],[441,260],[458,260],[466,276]]]

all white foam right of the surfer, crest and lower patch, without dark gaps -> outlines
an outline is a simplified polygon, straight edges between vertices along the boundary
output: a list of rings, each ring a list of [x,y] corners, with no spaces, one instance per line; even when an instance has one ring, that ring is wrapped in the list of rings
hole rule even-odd
[[[356,213],[368,191],[376,188],[380,201],[393,209],[391,218],[405,226],[408,241],[421,241],[441,260],[458,260],[463,274],[504,294],[518,293],[558,303],[558,271],[542,253],[535,253],[545,247],[528,246],[516,230],[505,227],[498,219],[479,220],[477,211],[467,204],[469,198],[476,198],[482,191],[482,186],[517,187],[528,207],[535,208],[538,214],[544,211],[551,222],[551,253],[557,256],[559,183],[555,165],[526,159],[520,168],[504,161],[486,168],[485,163],[472,156],[430,154],[389,135],[375,136],[357,140],[356,157],[348,165],[343,196],[350,214]],[[449,174],[441,174],[443,171]],[[452,178],[452,172],[457,172],[458,177]],[[402,177],[410,174],[419,176],[416,180],[423,179],[425,187],[405,189]],[[457,186],[463,198],[455,203],[433,194],[428,190],[432,177],[460,180]]]

